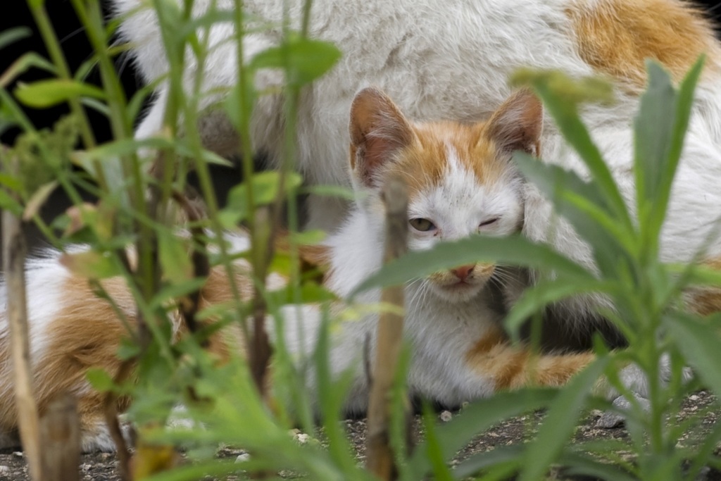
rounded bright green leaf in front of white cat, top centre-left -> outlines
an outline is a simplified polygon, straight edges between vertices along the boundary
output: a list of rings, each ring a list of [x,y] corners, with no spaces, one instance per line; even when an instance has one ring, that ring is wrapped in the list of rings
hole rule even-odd
[[[288,74],[288,83],[304,85],[329,71],[340,57],[340,50],[332,43],[295,36],[283,45],[258,53],[249,67],[283,69]]]

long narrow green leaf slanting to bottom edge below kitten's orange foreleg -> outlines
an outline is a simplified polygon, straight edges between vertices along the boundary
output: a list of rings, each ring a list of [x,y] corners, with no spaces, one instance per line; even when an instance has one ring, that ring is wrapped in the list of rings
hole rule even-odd
[[[580,416],[593,384],[606,369],[608,357],[597,358],[576,374],[550,405],[536,440],[528,446],[523,459],[520,481],[543,479],[550,464],[561,453]]]

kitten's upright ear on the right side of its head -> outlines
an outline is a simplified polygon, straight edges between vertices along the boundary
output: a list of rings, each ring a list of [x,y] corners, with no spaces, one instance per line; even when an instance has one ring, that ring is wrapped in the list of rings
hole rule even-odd
[[[487,135],[507,152],[522,150],[539,156],[543,130],[543,105],[528,89],[511,95],[487,123]]]

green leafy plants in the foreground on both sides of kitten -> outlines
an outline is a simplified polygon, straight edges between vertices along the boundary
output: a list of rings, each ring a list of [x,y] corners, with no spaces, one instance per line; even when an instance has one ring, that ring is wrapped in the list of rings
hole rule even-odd
[[[191,18],[192,1],[180,6],[174,1],[152,1],[161,20],[169,59],[170,93],[164,131],[144,141],[133,140],[132,125],[154,86],[141,90],[131,99],[125,98],[112,65],[113,58],[123,51],[123,47],[110,46],[115,22],[103,23],[99,0],[72,3],[96,49],[94,58],[79,71],[68,71],[44,12],[43,0],[28,0],[48,45],[50,59],[27,53],[0,76],[1,120],[16,123],[24,132],[17,144],[0,152],[5,169],[0,175],[0,184],[6,188],[0,190],[0,206],[35,222],[58,248],[72,242],[90,244],[91,251],[68,257],[68,265],[89,278],[99,296],[110,299],[98,282],[103,278],[121,275],[131,286],[138,308],[138,324],[128,328],[128,342],[123,343],[119,352],[119,356],[128,361],[127,369],[116,374],[115,379],[102,371],[93,371],[89,376],[98,389],[109,392],[110,396],[133,398],[129,414],[140,426],[142,442],[178,444],[187,449],[188,456],[194,460],[192,464],[160,472],[152,479],[186,480],[235,472],[239,469],[237,464],[214,456],[220,444],[243,446],[252,453],[251,460],[242,464],[247,472],[291,469],[313,480],[369,479],[370,475],[357,466],[338,422],[349,382],[345,378],[331,379],[329,374],[327,344],[329,330],[336,319],[328,315],[317,350],[308,363],[317,376],[319,389],[315,405],[324,436],[329,441],[328,449],[314,443],[298,444],[288,436],[296,423],[307,433],[314,433],[316,424],[314,402],[304,387],[305,373],[298,370],[298,363],[293,362],[282,338],[275,344],[275,391],[266,393],[256,389],[264,385],[268,362],[267,339],[262,336],[265,314],[278,314],[283,304],[328,299],[328,294],[314,288],[298,269],[297,244],[304,240],[296,232],[295,198],[300,177],[293,171],[298,92],[330,69],[340,55],[332,45],[307,37],[310,1],[306,2],[301,31],[292,31],[288,22],[280,25],[283,32],[280,45],[261,53],[252,63],[239,61],[239,83],[231,92],[225,92],[222,105],[207,107],[224,109],[242,139],[244,182],[235,187],[225,208],[218,206],[208,164],[226,161],[203,149],[195,128],[202,115],[203,98],[199,92],[203,69],[197,69],[190,89],[183,89],[182,73],[185,52],[190,52],[194,61],[203,66],[208,43],[200,33],[213,22],[234,22],[239,37],[244,35],[248,19],[244,17],[242,2],[236,1],[233,12],[211,11]],[[4,32],[0,35],[0,48],[22,34],[22,30]],[[242,58],[241,48],[238,56]],[[316,61],[306,63],[308,56]],[[501,479],[519,472],[521,479],[535,480],[554,463],[614,480],[694,479],[704,465],[721,464],[713,454],[721,439],[720,429],[709,433],[695,449],[677,448],[678,433],[688,425],[668,425],[666,421],[678,411],[684,394],[694,387],[681,382],[682,366],[693,367],[705,385],[715,394],[721,394],[717,316],[701,318],[678,309],[684,288],[702,284],[719,286],[721,275],[695,265],[664,265],[658,260],[658,236],[701,66],[699,61],[676,91],[663,69],[650,63],[650,87],[641,102],[637,120],[635,218],[578,118],[577,101],[589,92],[588,84],[575,84],[556,73],[522,75],[544,101],[593,177],[582,180],[572,172],[523,155],[517,156],[518,163],[526,177],[553,200],[559,214],[588,241],[598,265],[597,273],[562,257],[546,245],[520,237],[474,238],[406,255],[387,265],[358,289],[393,286],[440,268],[479,260],[521,265],[553,272],[554,277],[529,289],[518,301],[507,319],[512,332],[523,319],[553,301],[601,292],[616,306],[616,311],[604,314],[629,340],[627,350],[614,353],[606,352],[603,345],[597,343],[598,360],[563,389],[523,389],[499,394],[466,407],[457,420],[441,428],[435,427],[433,416],[426,412],[425,440],[415,447],[415,453],[408,455],[404,449],[395,449],[401,479],[418,480],[429,474],[441,480],[470,475]],[[14,76],[30,67],[43,68],[53,77],[8,92],[6,87]],[[286,162],[280,172],[260,175],[252,168],[249,119],[257,96],[265,93],[255,92],[250,79],[257,69],[267,68],[282,69],[286,73],[287,123],[283,139]],[[91,69],[101,72],[102,89],[84,83],[84,76]],[[590,87],[598,92],[598,84],[592,83]],[[570,98],[568,92],[575,94]],[[72,113],[52,132],[39,132],[23,115],[18,102],[40,108],[68,102]],[[84,115],[87,108],[104,112],[111,119],[115,137],[112,142],[96,144]],[[178,135],[180,131],[182,136]],[[151,154],[147,154],[148,151]],[[15,159],[22,159],[22,163],[18,164]],[[151,165],[156,169],[152,170]],[[202,213],[189,207],[191,194],[185,177],[190,169],[195,169],[200,179],[205,204]],[[38,175],[38,172],[50,173]],[[56,188],[65,191],[75,208],[48,225],[38,215],[38,207]],[[97,205],[85,204],[81,193],[95,195],[99,199]],[[285,222],[293,234],[288,252],[279,253],[273,250],[273,238],[282,220],[283,201],[288,202]],[[187,224],[190,236],[177,235],[177,211],[183,211],[190,218]],[[221,231],[239,222],[247,226],[252,237],[252,248],[247,254],[255,273],[252,300],[243,301],[237,286],[233,286],[236,296],[230,306],[199,311],[193,296],[205,281],[208,268],[221,265],[229,271],[233,260],[224,242],[218,240]],[[64,233],[58,234],[58,229]],[[136,267],[131,266],[128,252],[136,253]],[[189,257],[188,252],[193,255]],[[282,293],[265,291],[263,280],[271,268],[283,271],[291,279]],[[172,343],[168,306],[177,305],[178,299],[188,301],[183,304],[183,317],[190,333],[180,342]],[[214,327],[200,327],[209,318],[215,319]],[[253,332],[260,333],[249,345],[249,363],[231,356],[218,367],[203,350],[204,341],[214,329],[231,323],[239,323],[247,333],[247,319],[255,322]],[[656,382],[654,376],[665,354],[670,356],[673,371],[668,385]],[[619,383],[619,369],[630,362],[638,363],[650,374],[648,410],[634,402],[634,397]],[[131,366],[137,367],[133,371]],[[131,371],[132,382],[128,381]],[[403,372],[400,369],[398,374],[397,400],[402,399]],[[609,403],[589,394],[601,374],[632,401],[632,409],[626,415],[630,448],[637,460],[621,467],[604,461],[614,446],[567,445],[585,408],[613,409]],[[267,404],[270,398],[277,401],[271,403],[273,409]],[[187,406],[188,418],[203,423],[204,427],[165,429],[164,421],[172,416],[172,408],[178,402]],[[293,406],[293,412],[288,411],[288,405]],[[499,420],[541,408],[548,410],[546,423],[535,441],[473,456],[454,470],[448,468],[448,459],[479,431]],[[402,444],[399,434],[402,415],[402,402],[394,402],[392,442],[395,446]],[[148,455],[152,456],[152,451]],[[682,472],[684,462],[688,462],[689,467]]]

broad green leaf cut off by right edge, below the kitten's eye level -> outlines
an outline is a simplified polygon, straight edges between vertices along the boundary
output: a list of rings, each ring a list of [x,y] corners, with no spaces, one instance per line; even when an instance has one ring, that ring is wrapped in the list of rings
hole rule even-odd
[[[664,325],[694,374],[718,396],[721,395],[721,332],[709,319],[699,319],[681,312],[669,313]]]

